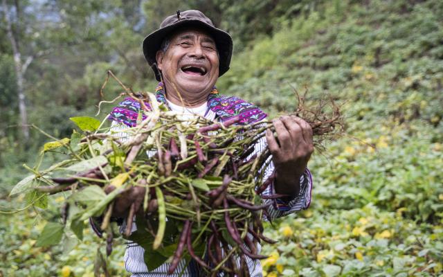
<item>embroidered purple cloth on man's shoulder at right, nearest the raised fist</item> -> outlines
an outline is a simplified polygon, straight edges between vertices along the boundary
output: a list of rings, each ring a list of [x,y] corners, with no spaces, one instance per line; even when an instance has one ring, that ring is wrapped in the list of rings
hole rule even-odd
[[[208,106],[223,121],[239,116],[240,124],[255,123],[267,116],[260,107],[237,96],[220,95],[214,101],[209,101]]]

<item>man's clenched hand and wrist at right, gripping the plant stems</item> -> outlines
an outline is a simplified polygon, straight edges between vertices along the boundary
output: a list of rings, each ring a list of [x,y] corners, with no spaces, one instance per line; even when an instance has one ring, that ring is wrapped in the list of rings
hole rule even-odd
[[[300,177],[314,152],[311,126],[296,116],[273,120],[277,139],[266,130],[266,141],[275,166],[275,193],[291,198],[300,191]]]

